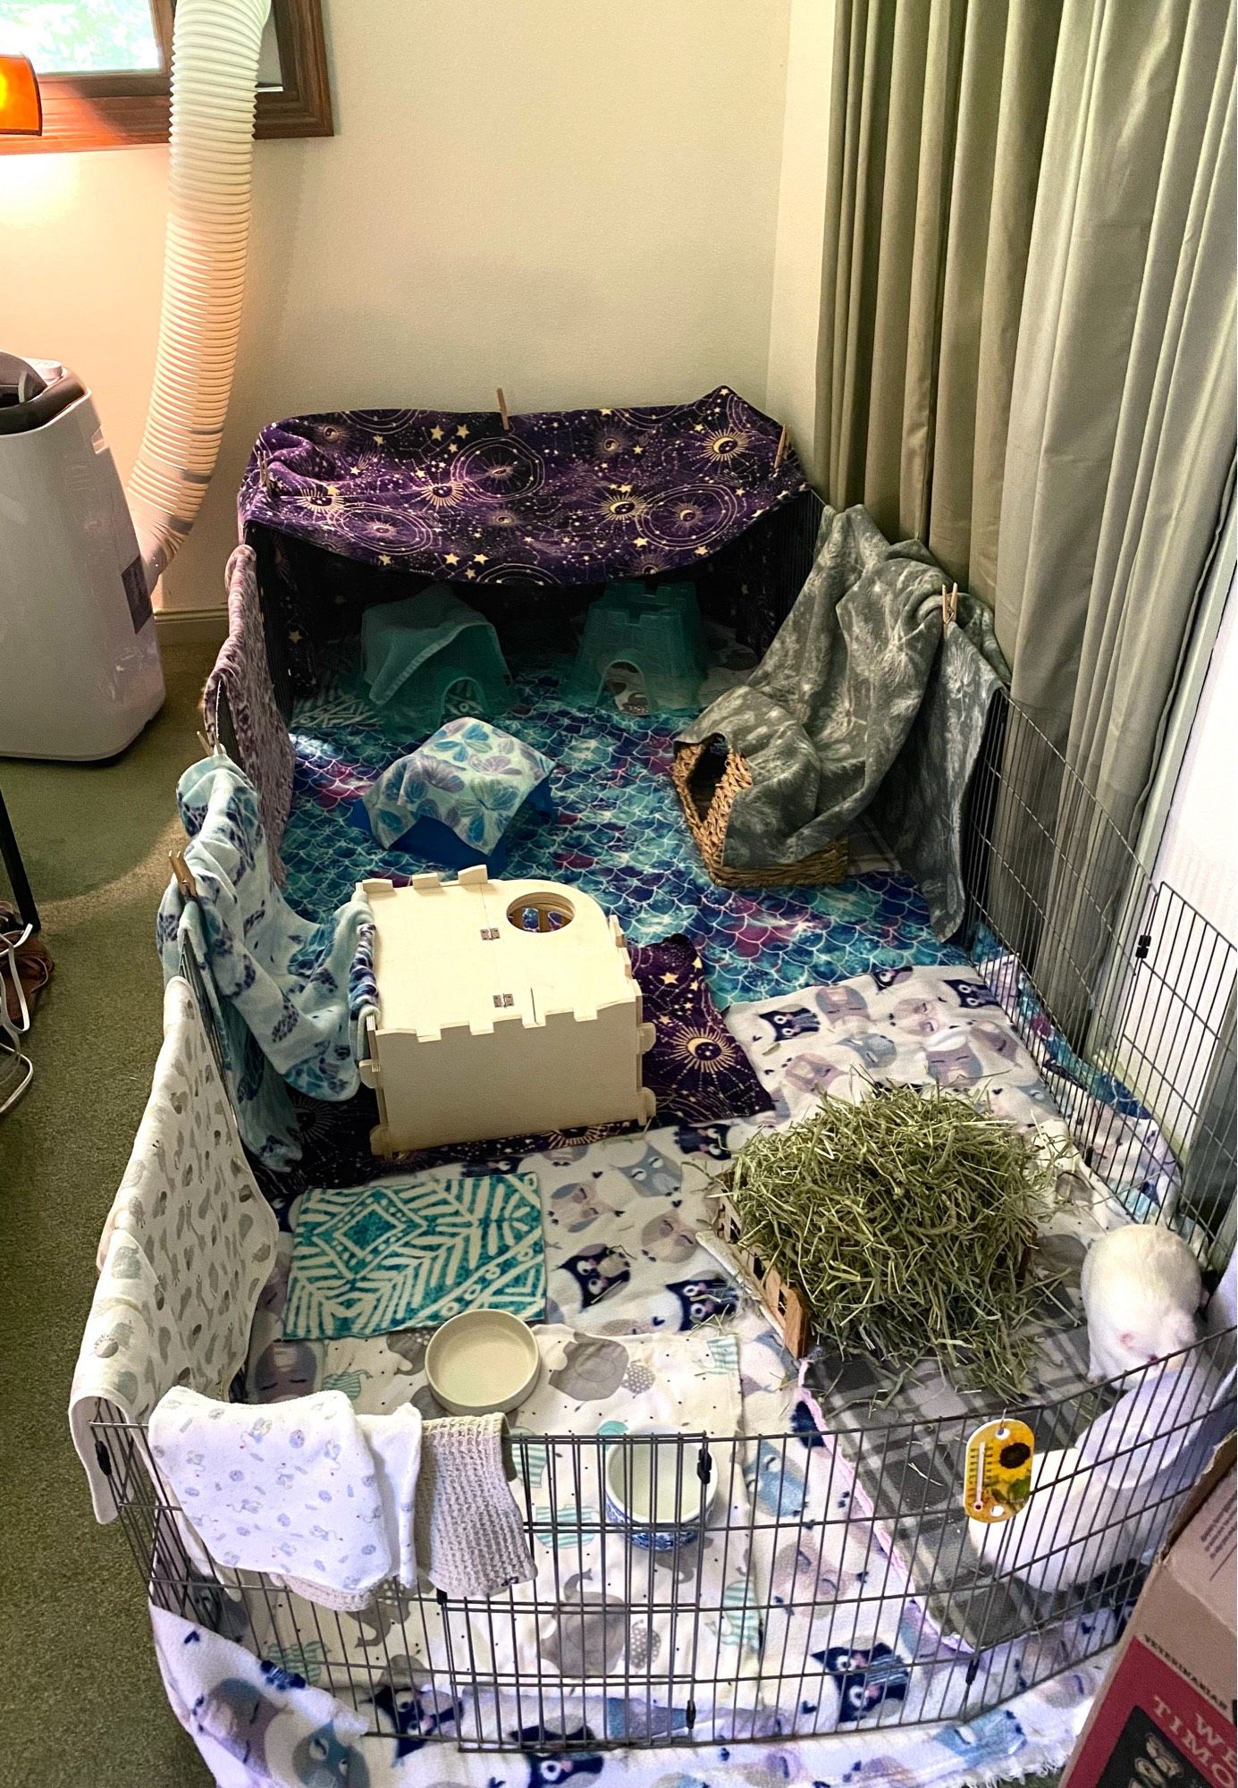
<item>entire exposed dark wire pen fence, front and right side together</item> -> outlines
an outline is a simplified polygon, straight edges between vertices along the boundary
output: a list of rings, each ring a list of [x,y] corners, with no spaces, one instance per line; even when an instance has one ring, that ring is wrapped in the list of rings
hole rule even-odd
[[[1084,1164],[1215,1275],[1234,1223],[1233,944],[1152,885],[1005,699],[962,862],[964,946]],[[193,960],[186,974],[209,1017]],[[1063,1395],[1018,1407],[861,1407],[708,1438],[513,1432],[535,1579],[488,1600],[386,1582],[358,1615],[216,1572],[145,1430],[100,1407],[95,1441],[150,1600],[329,1688],[374,1734],[551,1752],[809,1738],[975,1718],[1113,1643],[1233,1427],[1234,1330],[1213,1330],[1124,1380],[1090,1384],[1081,1359]],[[1039,1468],[989,1538],[962,1505],[986,1416],[1027,1421]],[[669,1486],[639,1536],[606,1502],[615,1445]]]

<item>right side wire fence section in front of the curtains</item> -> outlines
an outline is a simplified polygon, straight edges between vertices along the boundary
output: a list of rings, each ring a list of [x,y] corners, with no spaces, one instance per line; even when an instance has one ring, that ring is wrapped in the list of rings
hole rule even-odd
[[[1084,1160],[1220,1271],[1234,1243],[1233,942],[1150,880],[1009,697],[971,785],[964,883],[971,960]]]

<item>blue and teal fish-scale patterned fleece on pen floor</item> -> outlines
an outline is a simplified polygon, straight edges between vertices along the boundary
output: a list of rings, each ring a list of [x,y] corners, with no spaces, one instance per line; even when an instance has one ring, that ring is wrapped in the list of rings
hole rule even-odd
[[[873,969],[966,960],[934,937],[905,874],[875,871],[821,889],[714,887],[671,787],[674,717],[565,706],[558,681],[567,667],[562,658],[517,670],[499,719],[556,765],[556,817],[515,821],[506,876],[581,887],[639,944],[685,932],[705,953],[719,1007]],[[299,912],[326,917],[365,876],[401,881],[435,867],[381,851],[352,822],[361,790],[419,738],[392,737],[365,696],[345,685],[301,703],[292,733],[297,780],[283,856]]]

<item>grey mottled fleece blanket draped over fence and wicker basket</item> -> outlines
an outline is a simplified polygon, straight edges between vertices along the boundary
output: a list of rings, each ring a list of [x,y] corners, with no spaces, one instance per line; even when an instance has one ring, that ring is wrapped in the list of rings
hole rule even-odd
[[[975,597],[959,594],[943,638],[941,586],[918,540],[891,545],[864,508],[825,508],[812,570],[760,665],[676,740],[721,737],[748,762],[728,867],[798,862],[866,814],[920,881],[934,930],[959,928],[962,808],[1009,672]]]

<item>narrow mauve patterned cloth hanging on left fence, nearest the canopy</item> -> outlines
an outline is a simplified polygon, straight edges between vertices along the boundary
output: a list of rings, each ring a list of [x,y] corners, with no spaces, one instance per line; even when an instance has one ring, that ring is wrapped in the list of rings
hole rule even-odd
[[[284,719],[276,706],[263,638],[263,611],[250,547],[236,547],[227,561],[227,638],[202,690],[206,738],[218,751],[218,692],[227,697],[240,767],[258,792],[267,831],[270,873],[284,880],[279,844],[292,808],[295,756]]]

